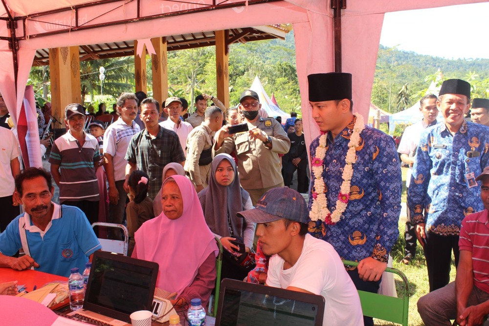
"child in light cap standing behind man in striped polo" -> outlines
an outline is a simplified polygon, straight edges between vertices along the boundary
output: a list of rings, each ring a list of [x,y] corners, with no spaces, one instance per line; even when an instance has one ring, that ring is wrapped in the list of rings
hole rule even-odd
[[[89,124],[90,135],[96,138],[98,141],[98,147],[100,149],[100,155],[102,159],[98,165],[95,175],[98,180],[98,193],[101,194],[100,204],[98,206],[98,221],[106,222],[107,216],[109,216],[109,192],[107,189],[107,176],[104,169],[104,133],[105,125],[100,120],[94,120]]]

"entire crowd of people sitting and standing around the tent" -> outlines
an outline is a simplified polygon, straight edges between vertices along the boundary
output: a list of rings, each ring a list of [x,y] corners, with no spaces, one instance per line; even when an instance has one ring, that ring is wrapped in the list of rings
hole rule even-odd
[[[480,325],[489,313],[489,100],[473,100],[469,122],[470,84],[446,80],[438,96],[422,97],[422,121],[396,148],[354,114],[351,74],[308,81],[321,132],[309,160],[302,119],[292,113],[282,125],[260,116],[252,90],[230,109],[199,95],[186,121],[182,98],[169,97],[160,109],[153,98],[123,93],[118,118],[109,126],[90,122],[90,134],[85,109],[70,104],[67,133],[49,155],[51,173],[21,171],[15,137],[0,128],[11,139],[1,153],[1,178],[11,187],[0,199],[14,208],[1,219],[0,266],[68,276],[101,249],[91,223],[127,220],[129,255],[159,264],[157,286],[177,293],[176,306],[194,297],[208,303],[220,243],[223,277],[322,295],[324,325],[373,325],[357,290],[378,292],[398,240],[402,161],[409,166],[403,262],[415,256],[417,239],[430,284],[420,315],[426,325]],[[437,123],[439,111],[444,121]],[[295,171],[297,191],[290,188]],[[449,283],[452,252],[458,269]],[[12,294],[13,286],[0,292]]]

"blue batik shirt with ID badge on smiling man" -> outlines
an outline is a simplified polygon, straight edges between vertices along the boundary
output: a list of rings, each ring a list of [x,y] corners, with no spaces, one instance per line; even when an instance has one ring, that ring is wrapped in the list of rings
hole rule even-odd
[[[477,177],[488,166],[488,149],[489,127],[484,125],[464,121],[455,135],[445,123],[427,128],[416,150],[408,190],[413,222],[425,223],[430,233],[458,235],[464,217],[484,209],[481,182],[473,180],[477,186],[469,188],[465,175],[473,172]]]

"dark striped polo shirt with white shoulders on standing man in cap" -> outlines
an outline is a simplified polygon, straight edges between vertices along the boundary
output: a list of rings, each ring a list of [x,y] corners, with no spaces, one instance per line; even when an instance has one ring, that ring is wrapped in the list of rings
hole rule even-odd
[[[54,141],[49,163],[60,165],[60,203],[100,200],[93,165],[99,161],[98,141],[91,135],[85,134],[83,146],[69,131]]]

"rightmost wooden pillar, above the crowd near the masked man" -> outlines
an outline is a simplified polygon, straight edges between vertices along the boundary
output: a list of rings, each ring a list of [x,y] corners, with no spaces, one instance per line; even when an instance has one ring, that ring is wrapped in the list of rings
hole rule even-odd
[[[216,34],[216,76],[217,98],[229,108],[229,47],[228,30],[217,30]]]

